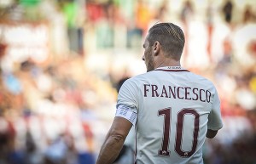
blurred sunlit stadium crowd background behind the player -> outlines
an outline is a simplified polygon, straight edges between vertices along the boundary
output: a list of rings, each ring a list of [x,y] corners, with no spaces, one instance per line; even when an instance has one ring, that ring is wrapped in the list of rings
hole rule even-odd
[[[146,71],[143,39],[163,21],[222,101],[205,163],[255,164],[253,0],[0,0],[0,163],[95,163],[119,85]]]

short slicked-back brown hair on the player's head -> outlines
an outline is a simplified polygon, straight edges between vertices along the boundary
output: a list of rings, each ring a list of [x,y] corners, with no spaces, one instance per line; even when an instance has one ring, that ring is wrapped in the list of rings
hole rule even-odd
[[[149,46],[160,42],[163,51],[172,59],[179,60],[183,53],[185,38],[183,31],[172,23],[157,23],[148,31]]]

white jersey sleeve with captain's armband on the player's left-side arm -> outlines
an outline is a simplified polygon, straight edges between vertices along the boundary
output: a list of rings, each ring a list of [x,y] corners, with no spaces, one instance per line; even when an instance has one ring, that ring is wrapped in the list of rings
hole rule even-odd
[[[119,89],[115,116],[121,116],[133,125],[137,122],[138,88],[135,82],[128,79]]]

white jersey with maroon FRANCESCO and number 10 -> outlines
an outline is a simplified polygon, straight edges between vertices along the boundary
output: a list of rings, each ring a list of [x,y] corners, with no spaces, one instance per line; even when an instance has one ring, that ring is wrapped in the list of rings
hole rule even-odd
[[[116,116],[136,126],[137,164],[203,164],[207,129],[223,127],[212,82],[181,67],[126,80]]]

